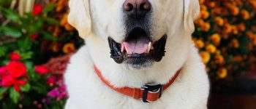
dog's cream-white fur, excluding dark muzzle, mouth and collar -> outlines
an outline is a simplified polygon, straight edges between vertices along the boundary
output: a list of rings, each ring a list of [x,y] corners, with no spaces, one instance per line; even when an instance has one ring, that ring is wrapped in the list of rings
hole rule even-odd
[[[124,23],[121,17],[121,6],[124,0],[91,0],[89,3],[91,26],[86,27],[89,28],[87,30],[91,30],[90,35],[86,37],[86,46],[72,56],[64,76],[69,92],[65,108],[206,108],[209,90],[208,76],[197,49],[191,43],[193,26],[187,24],[192,22],[191,20],[194,20],[197,15],[198,6],[192,5],[197,4],[195,3],[197,0],[149,1],[154,10],[151,30],[154,41],[160,39],[165,33],[168,36],[166,55],[162,61],[155,62],[151,68],[140,70],[127,68],[127,65],[114,62],[110,58],[107,38],[111,36],[118,42],[124,39]],[[70,7],[71,10],[79,9],[79,5],[74,3],[73,5],[77,7]],[[186,9],[191,9],[192,14]],[[79,27],[76,28],[79,30]],[[139,88],[148,83],[166,84],[178,69],[182,68],[182,70],[176,81],[163,92],[159,100],[144,103],[110,89],[99,79],[93,65],[97,65],[102,76],[116,87]]]

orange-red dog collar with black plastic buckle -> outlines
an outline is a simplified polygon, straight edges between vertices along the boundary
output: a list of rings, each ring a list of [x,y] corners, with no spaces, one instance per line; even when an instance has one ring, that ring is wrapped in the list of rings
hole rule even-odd
[[[111,85],[107,80],[105,80],[105,78],[102,76],[102,73],[96,67],[96,65],[94,65],[94,70],[99,76],[99,78],[111,89],[121,94],[127,95],[129,97],[133,97],[136,100],[142,99],[143,102],[157,101],[161,97],[162,92],[164,92],[165,89],[167,89],[171,84],[173,84],[173,82],[178,77],[178,74],[181,72],[181,70],[178,70],[176,74],[173,76],[173,78],[171,78],[170,81],[165,85],[147,84],[142,88],[130,88],[130,87],[116,88],[115,86]]]

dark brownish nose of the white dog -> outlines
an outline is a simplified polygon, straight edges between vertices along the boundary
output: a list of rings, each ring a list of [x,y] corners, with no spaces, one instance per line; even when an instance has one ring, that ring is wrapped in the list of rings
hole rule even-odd
[[[151,4],[148,0],[126,0],[123,10],[130,17],[143,18],[150,12]]]

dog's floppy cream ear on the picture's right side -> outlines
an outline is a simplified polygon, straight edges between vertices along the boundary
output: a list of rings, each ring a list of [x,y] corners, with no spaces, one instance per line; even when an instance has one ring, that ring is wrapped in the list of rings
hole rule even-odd
[[[194,21],[200,13],[198,0],[184,0],[184,29],[188,33],[195,31]]]

